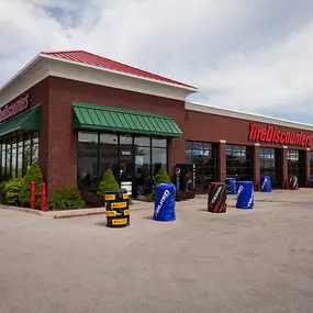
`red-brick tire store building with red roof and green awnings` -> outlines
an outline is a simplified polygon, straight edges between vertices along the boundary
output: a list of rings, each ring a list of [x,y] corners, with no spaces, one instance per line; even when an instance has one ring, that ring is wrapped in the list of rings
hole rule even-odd
[[[197,88],[86,52],[41,53],[0,90],[1,175],[38,160],[51,194],[97,189],[107,168],[146,194],[176,164],[194,164],[195,189],[261,175],[309,187],[313,126],[186,102]]]

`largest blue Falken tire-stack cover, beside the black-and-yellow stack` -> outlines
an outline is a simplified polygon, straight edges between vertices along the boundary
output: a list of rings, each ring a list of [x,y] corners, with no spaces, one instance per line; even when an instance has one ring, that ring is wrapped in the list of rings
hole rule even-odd
[[[175,194],[176,188],[172,183],[159,183],[156,186],[155,221],[171,222],[176,220]]]

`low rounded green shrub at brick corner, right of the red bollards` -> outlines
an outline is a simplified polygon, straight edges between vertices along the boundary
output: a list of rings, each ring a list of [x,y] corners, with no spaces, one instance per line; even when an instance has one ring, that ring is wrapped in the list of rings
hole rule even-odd
[[[80,195],[78,187],[69,185],[62,187],[47,201],[48,210],[80,209],[86,204]]]

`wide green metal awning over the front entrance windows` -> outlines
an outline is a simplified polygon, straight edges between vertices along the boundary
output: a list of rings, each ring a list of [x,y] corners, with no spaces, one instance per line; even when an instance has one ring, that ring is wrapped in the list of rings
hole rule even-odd
[[[72,127],[181,137],[172,118],[141,111],[72,102]]]

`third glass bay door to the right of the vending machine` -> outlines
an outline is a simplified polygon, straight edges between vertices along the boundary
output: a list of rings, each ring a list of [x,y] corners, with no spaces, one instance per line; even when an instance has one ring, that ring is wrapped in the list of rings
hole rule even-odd
[[[260,148],[260,175],[269,176],[273,189],[281,188],[281,149]]]

